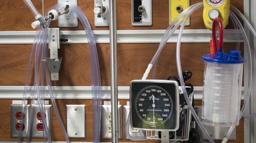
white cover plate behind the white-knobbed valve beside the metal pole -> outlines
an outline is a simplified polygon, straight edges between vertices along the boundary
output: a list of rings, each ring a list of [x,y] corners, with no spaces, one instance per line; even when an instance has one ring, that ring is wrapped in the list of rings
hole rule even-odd
[[[103,5],[107,6],[109,9],[109,0],[101,0],[101,2]],[[95,4],[96,4],[96,0],[94,0],[94,5]],[[94,13],[94,25],[96,27],[109,26],[109,12],[101,14],[101,18],[97,18],[97,14]]]

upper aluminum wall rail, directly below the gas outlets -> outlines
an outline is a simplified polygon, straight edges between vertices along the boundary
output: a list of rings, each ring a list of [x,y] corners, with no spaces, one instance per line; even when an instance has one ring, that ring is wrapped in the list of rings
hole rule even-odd
[[[165,30],[118,30],[117,43],[160,43]],[[168,43],[176,43],[179,30],[176,30]],[[88,43],[84,31],[61,31],[63,39],[68,44]],[[96,43],[109,43],[109,31],[93,31]],[[224,42],[236,42],[234,29],[224,30]],[[33,44],[36,31],[7,31],[0,32],[0,44]],[[210,30],[184,30],[181,38],[183,43],[209,43]],[[240,33],[240,42],[243,36]]]

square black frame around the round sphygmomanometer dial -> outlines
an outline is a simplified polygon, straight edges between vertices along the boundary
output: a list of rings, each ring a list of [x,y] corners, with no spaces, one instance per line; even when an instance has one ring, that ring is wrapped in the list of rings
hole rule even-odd
[[[168,98],[172,100],[172,106],[170,106],[168,109],[170,110],[172,109],[172,113],[167,114],[168,115],[167,121],[164,121],[161,123],[155,122],[156,123],[155,125],[151,125],[149,121],[145,121],[144,118],[143,120],[141,116],[139,117],[139,114],[137,114],[138,111],[136,112],[136,106],[138,106],[138,104],[135,105],[135,100],[136,98],[139,98],[137,96],[140,96],[139,93],[141,92],[141,90],[147,87],[161,88],[162,91],[165,90],[164,92],[167,92],[169,94]],[[148,104],[147,106],[150,106],[151,104],[152,103]],[[133,129],[154,130],[154,131],[176,131],[179,128],[178,126],[179,110],[178,109],[179,109],[179,87],[176,81],[134,80],[130,83],[130,111],[131,111],[130,116],[131,116],[131,127]]]

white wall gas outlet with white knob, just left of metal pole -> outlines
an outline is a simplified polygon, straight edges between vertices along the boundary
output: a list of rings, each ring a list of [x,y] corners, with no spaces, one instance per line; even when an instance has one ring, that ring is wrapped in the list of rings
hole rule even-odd
[[[109,26],[109,0],[94,0],[94,25],[96,27]]]

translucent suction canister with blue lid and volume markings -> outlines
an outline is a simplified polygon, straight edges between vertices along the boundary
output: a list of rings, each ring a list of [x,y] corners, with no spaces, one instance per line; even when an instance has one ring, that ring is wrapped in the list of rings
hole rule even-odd
[[[202,123],[211,126],[239,125],[243,65],[240,51],[204,55]]]

